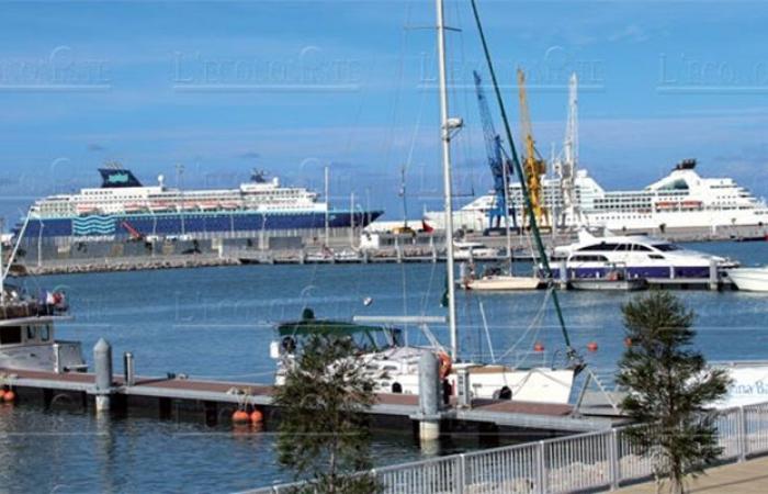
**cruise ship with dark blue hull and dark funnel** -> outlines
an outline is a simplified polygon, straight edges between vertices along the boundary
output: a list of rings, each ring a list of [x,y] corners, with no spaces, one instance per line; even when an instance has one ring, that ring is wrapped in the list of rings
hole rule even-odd
[[[14,233],[23,231],[29,243],[59,244],[249,238],[261,232],[302,236],[326,226],[364,227],[383,213],[332,209],[316,192],[283,187],[262,172],[253,172],[238,189],[183,191],[166,187],[162,176],[158,184],[144,186],[121,166],[99,172],[99,188],[36,201]]]

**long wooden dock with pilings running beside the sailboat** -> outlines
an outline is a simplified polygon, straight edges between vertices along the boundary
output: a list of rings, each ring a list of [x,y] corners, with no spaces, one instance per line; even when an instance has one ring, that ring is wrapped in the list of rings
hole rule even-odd
[[[104,394],[97,389],[95,381],[92,373],[0,369],[0,383],[12,389],[20,403],[46,408],[64,402],[95,409],[95,396]],[[280,415],[272,405],[271,385],[178,377],[136,377],[128,385],[125,377],[113,377],[109,390],[112,412],[199,420],[208,426],[230,422],[233,413],[242,408],[258,407],[268,423]],[[418,422],[418,400],[417,395],[379,394],[370,414],[374,423],[403,428]],[[544,435],[605,430],[614,425],[610,418],[577,416],[572,412],[568,405],[475,400],[465,409],[449,405],[441,412],[441,423],[448,429],[490,426]]]

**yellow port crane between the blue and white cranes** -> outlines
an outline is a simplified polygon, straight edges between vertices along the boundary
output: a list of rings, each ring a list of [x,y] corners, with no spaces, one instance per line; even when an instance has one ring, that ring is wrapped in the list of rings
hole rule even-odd
[[[518,90],[520,97],[520,126],[522,128],[522,141],[524,143],[524,156],[522,169],[526,175],[526,184],[531,198],[530,211],[527,209],[523,213],[523,224],[526,218],[532,216],[539,226],[550,227],[550,216],[544,206],[544,191],[541,178],[546,173],[546,161],[541,157],[535,147],[533,139],[533,127],[531,125],[531,114],[528,110],[528,93],[526,91],[526,72],[518,69]],[[529,221],[529,223],[532,223]]]

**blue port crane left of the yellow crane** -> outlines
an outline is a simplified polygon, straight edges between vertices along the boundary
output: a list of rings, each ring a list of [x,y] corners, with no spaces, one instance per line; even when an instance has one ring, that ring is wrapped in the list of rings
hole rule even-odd
[[[509,160],[504,156],[501,136],[494,128],[494,121],[490,117],[488,100],[483,91],[483,80],[479,74],[473,72],[475,78],[475,91],[477,93],[477,105],[479,108],[481,121],[483,123],[483,134],[485,138],[485,150],[488,156],[490,175],[494,177],[494,206],[488,210],[488,231],[501,227],[501,221],[509,222],[511,218],[512,228],[517,229],[517,217],[515,205],[509,201],[509,179],[512,176]],[[505,223],[505,226],[509,226]]]

